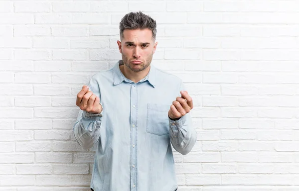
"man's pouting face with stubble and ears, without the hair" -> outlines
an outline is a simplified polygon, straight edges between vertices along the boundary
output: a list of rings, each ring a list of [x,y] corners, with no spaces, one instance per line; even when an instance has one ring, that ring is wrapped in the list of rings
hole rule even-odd
[[[117,41],[125,66],[134,72],[146,69],[152,60],[157,42],[149,29],[124,30],[124,38]]]

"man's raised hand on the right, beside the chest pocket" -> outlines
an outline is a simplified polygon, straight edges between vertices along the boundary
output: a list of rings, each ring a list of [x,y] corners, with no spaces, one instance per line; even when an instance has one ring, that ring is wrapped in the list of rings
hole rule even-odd
[[[170,105],[168,117],[170,119],[178,119],[193,109],[193,101],[187,91],[180,91],[181,97],[176,97],[175,101]]]

